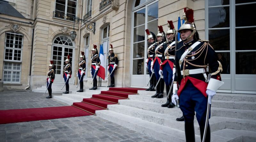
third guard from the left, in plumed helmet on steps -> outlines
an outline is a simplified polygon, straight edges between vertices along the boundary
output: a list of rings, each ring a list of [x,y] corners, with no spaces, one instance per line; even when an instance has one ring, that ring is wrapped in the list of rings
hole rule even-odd
[[[80,62],[79,62],[79,68],[78,71],[76,73],[76,76],[79,78],[80,80],[80,89],[76,92],[84,92],[84,75],[85,75],[85,67],[86,67],[86,61],[85,61],[85,56],[84,56],[84,52],[81,51],[81,55],[80,55]]]

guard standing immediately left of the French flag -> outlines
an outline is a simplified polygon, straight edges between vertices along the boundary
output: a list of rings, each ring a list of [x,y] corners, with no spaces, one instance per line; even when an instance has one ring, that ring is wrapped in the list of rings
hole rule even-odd
[[[96,90],[97,89],[97,74],[98,70],[100,68],[100,57],[97,50],[97,45],[93,44],[92,51],[92,67],[91,67],[91,73],[92,73],[92,79],[93,79],[93,87],[90,88],[90,90]]]

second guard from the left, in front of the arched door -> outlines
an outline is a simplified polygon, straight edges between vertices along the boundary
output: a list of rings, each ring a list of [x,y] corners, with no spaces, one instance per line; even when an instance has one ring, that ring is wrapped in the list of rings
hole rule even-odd
[[[68,55],[67,59],[65,60],[66,66],[64,68],[64,73],[63,73],[63,78],[64,78],[65,83],[66,83],[66,85],[65,85],[66,86],[66,91],[63,92],[64,94],[69,93],[68,81],[69,81],[69,78],[71,78],[71,74],[72,74],[72,67],[71,67],[71,64],[69,64],[69,57],[70,57],[70,55]]]

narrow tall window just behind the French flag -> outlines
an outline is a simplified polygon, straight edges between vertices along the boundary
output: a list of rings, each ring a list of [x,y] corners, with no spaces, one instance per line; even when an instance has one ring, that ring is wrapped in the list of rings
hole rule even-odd
[[[110,29],[110,25],[106,26],[105,28],[103,28],[102,31],[102,44],[103,44],[103,53],[104,53],[104,57],[105,57],[105,71],[106,71],[106,76],[107,76],[107,65],[108,65],[108,49],[109,49],[109,29]],[[99,50],[100,51],[100,50]],[[103,66],[103,64],[102,64]]]

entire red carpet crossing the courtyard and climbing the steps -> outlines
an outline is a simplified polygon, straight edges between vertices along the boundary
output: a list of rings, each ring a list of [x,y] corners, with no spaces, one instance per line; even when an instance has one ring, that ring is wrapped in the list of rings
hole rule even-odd
[[[72,106],[0,110],[0,124],[89,116],[96,110],[107,109],[108,105],[118,104],[118,100],[127,99],[128,95],[137,94],[138,90],[145,89],[113,87],[82,102],[74,102]]]

